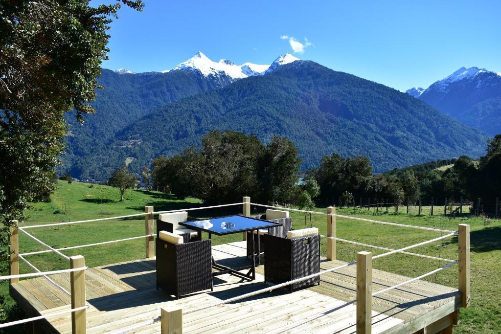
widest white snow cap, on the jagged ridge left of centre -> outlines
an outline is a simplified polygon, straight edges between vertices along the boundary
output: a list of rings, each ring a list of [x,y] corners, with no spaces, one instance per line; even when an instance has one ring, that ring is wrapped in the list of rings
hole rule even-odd
[[[245,63],[239,66],[227,59],[221,59],[216,63],[210,60],[203,53],[197,52],[187,61],[182,62],[171,70],[162,71],[162,73],[174,70],[198,70],[204,77],[220,77],[226,75],[232,80],[238,80],[250,76],[260,75],[262,74],[262,72],[266,71],[267,68],[268,65],[259,65],[252,63]]]

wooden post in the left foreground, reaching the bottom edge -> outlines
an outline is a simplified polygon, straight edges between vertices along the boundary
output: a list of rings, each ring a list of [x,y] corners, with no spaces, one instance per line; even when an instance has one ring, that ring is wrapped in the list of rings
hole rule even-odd
[[[85,266],[85,258],[82,255],[70,257],[70,267],[80,268]],[[70,272],[71,308],[85,306],[85,269]],[[73,334],[85,334],[86,332],[86,309],[71,313],[71,329]]]

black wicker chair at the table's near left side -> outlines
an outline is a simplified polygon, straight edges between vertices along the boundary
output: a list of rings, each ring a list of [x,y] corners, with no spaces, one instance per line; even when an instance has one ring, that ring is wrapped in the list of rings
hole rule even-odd
[[[177,298],[212,291],[212,243],[210,239],[173,244],[156,239],[157,289]]]

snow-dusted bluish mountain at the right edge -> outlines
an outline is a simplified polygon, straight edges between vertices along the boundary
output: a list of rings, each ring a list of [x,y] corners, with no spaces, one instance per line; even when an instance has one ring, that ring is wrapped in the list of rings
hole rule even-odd
[[[500,72],[461,67],[417,98],[465,125],[489,135],[501,133]]]

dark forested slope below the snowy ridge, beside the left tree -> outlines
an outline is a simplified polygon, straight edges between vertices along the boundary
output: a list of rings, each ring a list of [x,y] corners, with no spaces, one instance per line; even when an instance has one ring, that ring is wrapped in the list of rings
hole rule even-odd
[[[106,151],[117,131],[167,103],[232,82],[224,75],[206,77],[198,71],[131,74],[103,69],[101,74],[99,84],[104,89],[97,91],[96,101],[92,103],[97,113],[87,115],[84,124],[78,123],[73,113],[66,116],[70,128],[67,153],[62,157],[60,169],[77,178],[89,176],[85,172],[87,162],[82,159]],[[109,171],[105,174],[107,178]],[[100,172],[92,176],[104,177]]]

